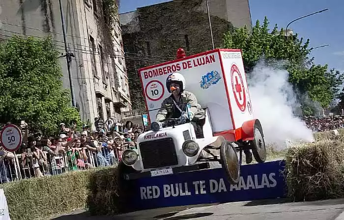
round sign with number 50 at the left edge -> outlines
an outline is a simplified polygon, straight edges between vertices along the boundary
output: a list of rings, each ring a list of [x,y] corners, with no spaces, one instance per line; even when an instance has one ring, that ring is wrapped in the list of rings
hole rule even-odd
[[[15,125],[6,125],[0,133],[1,146],[8,151],[16,151],[22,145],[22,132]]]

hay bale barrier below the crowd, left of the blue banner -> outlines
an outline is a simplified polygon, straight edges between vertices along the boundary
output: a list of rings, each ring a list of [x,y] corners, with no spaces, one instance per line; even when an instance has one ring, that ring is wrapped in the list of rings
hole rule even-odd
[[[90,191],[91,186],[104,186],[95,182],[99,179],[94,176],[98,173],[109,173],[114,169],[114,167],[94,168],[2,184],[10,218],[11,220],[40,220],[68,213],[74,209],[86,208],[88,197],[92,197],[92,193],[95,193]],[[106,179],[105,175],[102,177]],[[110,185],[110,178],[108,182]],[[107,189],[111,191],[112,187],[105,186],[102,189],[104,190],[103,197],[97,198],[96,201],[115,199],[111,196],[111,192],[107,192]],[[110,194],[107,195],[107,193]]]

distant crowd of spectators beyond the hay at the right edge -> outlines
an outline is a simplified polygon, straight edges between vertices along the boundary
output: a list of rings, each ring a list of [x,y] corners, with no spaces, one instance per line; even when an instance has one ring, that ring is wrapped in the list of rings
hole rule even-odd
[[[323,117],[304,117],[306,125],[313,132],[331,131],[344,128],[344,115],[327,115]]]

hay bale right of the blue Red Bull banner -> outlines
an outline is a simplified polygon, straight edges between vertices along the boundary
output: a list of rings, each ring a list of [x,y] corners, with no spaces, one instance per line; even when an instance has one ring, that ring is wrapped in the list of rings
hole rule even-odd
[[[344,196],[343,137],[319,136],[323,140],[287,150],[288,195],[295,201]]]

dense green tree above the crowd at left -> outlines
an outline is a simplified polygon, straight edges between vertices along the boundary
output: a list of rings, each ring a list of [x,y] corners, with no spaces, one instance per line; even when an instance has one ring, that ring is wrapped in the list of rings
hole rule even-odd
[[[57,132],[58,124],[76,121],[78,111],[62,88],[62,72],[50,37],[13,36],[0,45],[0,123],[25,120],[33,132]]]

